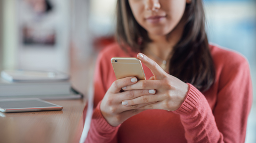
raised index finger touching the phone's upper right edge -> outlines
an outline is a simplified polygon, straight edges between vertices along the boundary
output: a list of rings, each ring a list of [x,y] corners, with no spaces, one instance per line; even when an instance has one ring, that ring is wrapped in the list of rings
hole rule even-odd
[[[161,79],[165,71],[152,59],[148,58],[143,53],[138,53],[137,57],[146,67],[148,67],[157,79]]]

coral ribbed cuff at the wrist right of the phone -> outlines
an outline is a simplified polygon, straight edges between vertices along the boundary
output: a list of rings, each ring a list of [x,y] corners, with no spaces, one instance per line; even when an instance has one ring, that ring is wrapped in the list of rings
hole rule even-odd
[[[199,106],[200,95],[202,93],[190,83],[187,84],[189,88],[187,91],[186,99],[177,110],[173,111],[179,115],[188,115],[193,113]]]

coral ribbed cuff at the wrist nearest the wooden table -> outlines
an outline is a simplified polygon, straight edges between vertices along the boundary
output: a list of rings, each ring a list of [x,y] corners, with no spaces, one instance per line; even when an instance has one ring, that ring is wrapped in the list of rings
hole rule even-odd
[[[98,127],[98,129],[104,133],[110,133],[115,131],[120,127],[120,125],[117,127],[113,127],[105,120],[105,118],[102,116],[102,113],[100,111],[100,104],[101,104],[101,101],[98,103],[97,107],[94,109],[93,117],[92,117],[93,124],[97,124],[96,126]]]

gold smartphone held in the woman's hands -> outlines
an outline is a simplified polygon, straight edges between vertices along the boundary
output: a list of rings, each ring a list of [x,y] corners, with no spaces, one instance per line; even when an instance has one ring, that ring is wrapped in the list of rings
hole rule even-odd
[[[138,80],[145,80],[145,74],[141,61],[137,58],[114,57],[111,63],[116,75],[116,79],[135,76]]]

